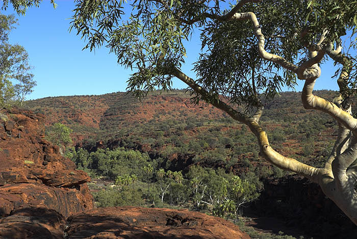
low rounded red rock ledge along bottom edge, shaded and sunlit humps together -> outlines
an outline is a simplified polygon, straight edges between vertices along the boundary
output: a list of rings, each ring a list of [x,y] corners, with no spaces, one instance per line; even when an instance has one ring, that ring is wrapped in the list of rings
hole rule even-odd
[[[53,209],[29,207],[0,219],[5,238],[249,239],[221,218],[186,210],[141,207],[98,208],[67,220]]]

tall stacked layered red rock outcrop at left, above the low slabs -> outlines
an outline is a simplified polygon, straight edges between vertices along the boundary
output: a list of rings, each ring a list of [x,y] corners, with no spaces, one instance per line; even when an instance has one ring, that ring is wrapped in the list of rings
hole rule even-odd
[[[28,206],[65,217],[93,208],[89,176],[43,135],[43,115],[16,108],[0,113],[0,217]]]

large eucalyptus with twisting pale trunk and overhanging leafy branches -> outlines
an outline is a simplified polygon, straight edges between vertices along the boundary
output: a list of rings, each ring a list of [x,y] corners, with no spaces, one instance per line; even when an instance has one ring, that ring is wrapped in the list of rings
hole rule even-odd
[[[246,124],[265,160],[319,183],[357,224],[357,119],[350,102],[357,89],[356,13],[351,0],[77,0],[70,29],[85,39],[85,48],[105,45],[118,63],[134,69],[127,84],[138,97],[170,89],[174,77],[186,83],[194,102],[211,103]],[[194,31],[201,40],[195,79],[182,71]],[[340,66],[332,102],[313,94],[317,80],[327,81],[319,76],[328,59]],[[339,125],[323,168],[274,150],[260,123],[266,100],[298,80],[304,81],[303,107]]]

